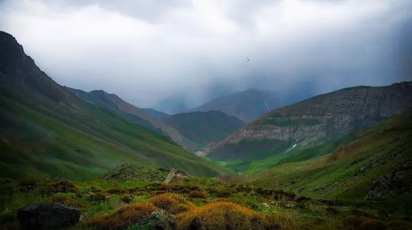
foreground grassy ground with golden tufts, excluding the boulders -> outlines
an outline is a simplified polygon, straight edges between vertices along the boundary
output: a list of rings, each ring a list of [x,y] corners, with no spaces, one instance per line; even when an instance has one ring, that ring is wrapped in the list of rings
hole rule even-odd
[[[199,184],[194,181],[180,184],[192,191],[215,191],[207,198],[193,197],[185,193],[164,193],[148,195],[155,188],[149,182],[112,182],[87,181],[82,183],[29,180],[2,180],[0,194],[0,218],[8,229],[17,229],[17,209],[32,202],[54,201],[70,207],[77,207],[83,222],[71,227],[71,230],[85,229],[138,229],[138,223],[156,210],[164,210],[177,216],[179,230],[187,229],[333,229],[343,225],[354,215],[355,209],[365,217],[366,224],[383,223],[392,226],[409,226],[411,223],[396,219],[385,219],[379,209],[359,208],[355,204],[343,204],[330,207],[317,199],[302,199],[301,196],[281,191],[268,190],[263,187],[245,184],[222,184],[211,179]],[[7,183],[6,183],[7,181]],[[5,192],[6,184],[11,189]],[[58,192],[47,189],[56,184],[70,184],[77,187],[76,193]],[[97,187],[96,185],[99,185]],[[162,185],[162,184],[160,184]],[[158,185],[158,187],[160,186]],[[30,191],[21,190],[33,186]],[[111,194],[106,199],[90,199],[93,194],[105,193],[115,187],[134,188],[141,193]],[[166,185],[162,185],[166,186]],[[145,190],[152,187],[149,190]],[[67,189],[66,189],[67,190]],[[66,191],[63,190],[63,191]],[[91,192],[94,190],[95,192]],[[216,197],[216,191],[231,191],[228,197]],[[124,190],[127,191],[127,190]],[[281,195],[281,196],[280,196]],[[131,199],[125,200],[125,197]],[[333,210],[333,212],[331,211]],[[376,215],[375,215],[376,214]],[[367,216],[366,216],[367,215]],[[366,221],[367,220],[367,221]],[[346,221],[346,222],[345,222]]]

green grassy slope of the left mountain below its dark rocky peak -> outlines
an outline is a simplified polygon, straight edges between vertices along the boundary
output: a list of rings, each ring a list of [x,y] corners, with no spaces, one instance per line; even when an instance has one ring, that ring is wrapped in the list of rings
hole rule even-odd
[[[3,177],[32,171],[52,178],[87,180],[127,162],[181,168],[206,177],[230,172],[86,102],[80,102],[86,114],[82,117],[63,116],[43,107],[33,109],[3,96],[0,105]],[[94,115],[94,121],[88,114]]]

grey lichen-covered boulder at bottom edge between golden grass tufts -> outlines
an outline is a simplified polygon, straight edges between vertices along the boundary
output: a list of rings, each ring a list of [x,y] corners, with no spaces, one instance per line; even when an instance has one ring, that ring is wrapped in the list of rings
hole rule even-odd
[[[138,229],[143,230],[175,230],[176,228],[176,216],[163,210],[153,212],[138,224]]]

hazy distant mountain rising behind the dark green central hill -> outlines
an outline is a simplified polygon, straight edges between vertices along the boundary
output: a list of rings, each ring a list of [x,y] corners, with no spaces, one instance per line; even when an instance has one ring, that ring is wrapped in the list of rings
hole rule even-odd
[[[254,121],[260,115],[274,109],[313,96],[309,92],[282,92],[282,91],[247,91],[231,93],[213,99],[190,111],[219,110],[230,116],[235,116],[245,123]],[[266,104],[265,104],[266,102]]]

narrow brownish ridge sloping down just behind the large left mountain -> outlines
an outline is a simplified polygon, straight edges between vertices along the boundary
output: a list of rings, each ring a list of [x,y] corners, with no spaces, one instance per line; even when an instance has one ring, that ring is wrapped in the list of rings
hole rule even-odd
[[[157,132],[162,133],[165,136],[169,136],[172,140],[179,145],[185,147],[186,150],[190,152],[195,152],[198,150],[197,145],[187,138],[183,137],[179,131],[174,129],[172,126],[164,123],[163,121],[153,117],[149,113],[145,112],[139,107],[135,107],[122,98],[118,97],[116,94],[109,94],[102,90],[95,90],[91,92],[84,92],[81,90],[70,89],[78,97],[94,104],[98,107],[104,107],[112,112],[116,113],[118,116],[126,119],[131,123],[136,123],[143,125],[145,127],[151,128]]]

